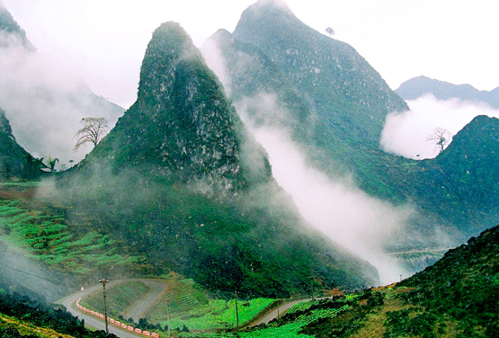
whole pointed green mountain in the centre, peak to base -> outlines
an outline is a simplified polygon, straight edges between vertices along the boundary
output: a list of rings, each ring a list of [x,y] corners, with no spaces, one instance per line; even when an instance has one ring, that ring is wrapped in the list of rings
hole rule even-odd
[[[378,279],[305,221],[272,177],[191,38],[174,22],[150,40],[138,100],[59,182],[73,215],[213,292],[356,289]],[[68,218],[70,219],[71,212]],[[318,283],[318,282],[317,282]]]

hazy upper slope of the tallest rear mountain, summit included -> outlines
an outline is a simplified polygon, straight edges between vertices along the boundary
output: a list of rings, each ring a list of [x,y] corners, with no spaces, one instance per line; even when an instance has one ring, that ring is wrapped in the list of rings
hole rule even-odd
[[[339,135],[337,148],[379,148],[388,112],[407,110],[355,49],[307,27],[281,0],[247,8],[233,34],[275,62],[308,108]]]

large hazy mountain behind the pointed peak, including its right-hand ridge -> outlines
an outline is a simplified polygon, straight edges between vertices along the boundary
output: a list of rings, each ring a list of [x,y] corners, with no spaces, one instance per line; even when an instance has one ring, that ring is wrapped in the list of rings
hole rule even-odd
[[[495,138],[495,120],[474,120],[473,132],[463,131],[436,159],[384,152],[386,116],[408,110],[405,102],[355,49],[307,27],[280,0],[251,5],[232,34],[218,31],[202,50],[244,120],[289,133],[329,177],[352,178],[370,196],[412,210],[383,244],[403,262],[434,262],[442,249],[495,224],[488,187],[496,182],[487,174],[495,143],[480,141]],[[431,254],[414,260],[414,249]]]

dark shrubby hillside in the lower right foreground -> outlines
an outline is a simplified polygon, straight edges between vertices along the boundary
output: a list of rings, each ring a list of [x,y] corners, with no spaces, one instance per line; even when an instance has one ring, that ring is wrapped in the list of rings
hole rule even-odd
[[[496,337],[499,227],[395,285],[299,304],[252,336]]]

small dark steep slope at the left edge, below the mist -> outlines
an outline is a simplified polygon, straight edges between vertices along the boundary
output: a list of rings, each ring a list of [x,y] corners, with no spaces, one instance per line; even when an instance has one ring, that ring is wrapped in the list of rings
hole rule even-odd
[[[32,156],[15,141],[9,121],[0,108],[0,181],[24,175]]]

